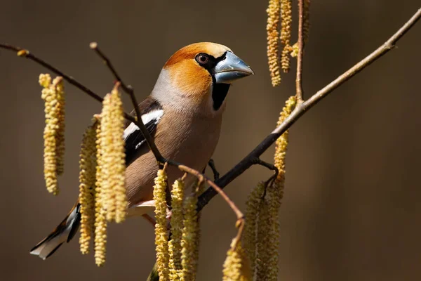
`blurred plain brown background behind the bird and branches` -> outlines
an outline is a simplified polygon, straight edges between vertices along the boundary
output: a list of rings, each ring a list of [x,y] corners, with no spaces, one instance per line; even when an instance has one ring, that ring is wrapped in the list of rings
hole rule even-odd
[[[266,8],[267,1],[244,0],[2,1],[0,41],[28,48],[105,94],[112,76],[88,48],[98,41],[140,100],[178,48],[196,41],[229,46],[256,75],[229,93],[214,157],[223,173],[272,131],[294,93],[294,74],[276,89],[269,81]],[[417,0],[314,1],[305,96],[377,48],[417,8]],[[421,279],[421,22],[398,45],[293,126],[280,280]],[[49,195],[40,72],[46,70],[0,50],[1,279],[145,280],[154,263],[153,229],[140,218],[111,226],[105,268],[81,256],[77,238],[48,261],[29,255],[76,200],[81,133],[100,110],[67,85],[66,173],[60,196]],[[272,152],[265,159],[272,161]],[[250,188],[269,175],[253,167],[226,190],[244,209]],[[234,221],[219,197],[203,211],[198,280],[220,280]]]

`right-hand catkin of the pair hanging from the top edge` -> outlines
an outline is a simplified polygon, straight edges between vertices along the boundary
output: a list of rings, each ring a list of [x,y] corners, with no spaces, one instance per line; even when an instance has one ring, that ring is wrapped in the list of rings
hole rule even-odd
[[[281,67],[283,72],[289,72],[290,68],[290,40],[292,29],[292,1],[281,0],[281,43],[283,50],[281,53]]]

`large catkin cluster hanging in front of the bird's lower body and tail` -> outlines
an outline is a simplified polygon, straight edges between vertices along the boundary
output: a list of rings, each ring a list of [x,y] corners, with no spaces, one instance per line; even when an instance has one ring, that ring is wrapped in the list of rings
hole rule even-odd
[[[95,263],[105,263],[107,221],[124,221],[127,214],[123,107],[116,88],[102,103],[86,129],[79,160],[79,204],[81,205],[82,254],[88,254],[94,236]]]

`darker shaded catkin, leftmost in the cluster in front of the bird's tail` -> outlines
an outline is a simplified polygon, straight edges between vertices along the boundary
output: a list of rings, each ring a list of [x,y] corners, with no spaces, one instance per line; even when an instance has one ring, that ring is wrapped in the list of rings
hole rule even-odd
[[[89,253],[89,242],[95,222],[95,173],[96,173],[96,129],[98,123],[89,126],[83,134],[79,159],[79,203],[81,204],[81,236],[79,244],[82,254]]]

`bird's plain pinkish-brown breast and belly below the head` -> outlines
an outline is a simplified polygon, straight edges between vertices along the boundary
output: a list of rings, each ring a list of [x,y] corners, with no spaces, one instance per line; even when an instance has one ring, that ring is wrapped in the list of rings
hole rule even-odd
[[[218,144],[221,122],[222,116],[203,118],[164,113],[154,136],[156,147],[163,157],[202,171]],[[129,206],[152,200],[156,171],[154,155],[145,147],[145,153],[126,169]],[[182,174],[179,169],[168,167],[168,184]]]

